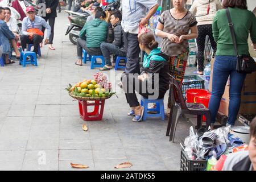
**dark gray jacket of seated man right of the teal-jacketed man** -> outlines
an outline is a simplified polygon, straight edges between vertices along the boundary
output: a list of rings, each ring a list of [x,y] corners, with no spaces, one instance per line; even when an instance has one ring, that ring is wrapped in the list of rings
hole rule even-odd
[[[118,22],[114,25],[114,41],[113,44],[120,49],[125,50],[125,42],[123,40],[123,28],[121,23]]]

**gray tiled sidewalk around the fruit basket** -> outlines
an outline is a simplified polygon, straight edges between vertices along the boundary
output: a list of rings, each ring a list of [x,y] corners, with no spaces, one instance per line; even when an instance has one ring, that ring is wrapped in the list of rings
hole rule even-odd
[[[0,67],[0,170],[74,170],[70,163],[113,170],[127,161],[133,167],[124,170],[179,170],[179,142],[190,125],[180,119],[175,143],[169,142],[167,120],[132,122],[124,94],[106,100],[104,119],[86,122],[89,130],[82,130],[77,101],[64,88],[98,70],[74,64],[76,46],[64,35],[66,24],[62,11],[55,23],[56,50],[44,46],[38,67],[23,68],[18,61]]]

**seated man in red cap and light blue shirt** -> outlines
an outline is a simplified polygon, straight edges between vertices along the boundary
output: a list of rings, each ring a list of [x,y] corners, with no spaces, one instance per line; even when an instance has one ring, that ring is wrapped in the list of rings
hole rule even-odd
[[[38,54],[38,47],[39,44],[43,40],[43,36],[37,35],[35,32],[28,32],[30,28],[38,29],[39,31],[42,30],[42,27],[47,29],[47,37],[44,44],[48,44],[49,36],[51,35],[51,27],[49,24],[41,18],[40,16],[35,15],[35,9],[32,6],[28,6],[26,9],[27,17],[22,21],[22,36],[20,37],[20,42],[22,44],[22,50],[27,48],[27,44],[34,45],[34,52],[36,55]]]

